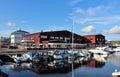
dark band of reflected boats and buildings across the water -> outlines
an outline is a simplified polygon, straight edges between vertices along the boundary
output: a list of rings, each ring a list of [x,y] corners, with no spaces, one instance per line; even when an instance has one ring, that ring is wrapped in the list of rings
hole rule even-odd
[[[11,64],[9,67],[12,71],[20,72],[30,70],[37,74],[52,74],[52,73],[68,73],[72,70],[72,60],[54,60],[51,62],[32,62],[32,63],[21,63]],[[84,66],[89,67],[103,67],[105,62],[97,61],[91,58],[79,57],[73,62],[74,69]]]

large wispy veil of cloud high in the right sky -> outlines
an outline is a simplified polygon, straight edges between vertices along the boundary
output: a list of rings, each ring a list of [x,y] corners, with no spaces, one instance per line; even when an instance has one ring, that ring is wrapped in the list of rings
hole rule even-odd
[[[89,7],[87,9],[73,8],[70,13],[70,19],[75,20],[77,24],[97,24],[107,25],[119,23],[120,15],[115,13],[112,6],[97,6]]]

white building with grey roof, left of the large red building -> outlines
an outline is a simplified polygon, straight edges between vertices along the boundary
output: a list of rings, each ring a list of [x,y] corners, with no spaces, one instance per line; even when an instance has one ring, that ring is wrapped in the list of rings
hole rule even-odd
[[[15,32],[11,33],[11,46],[17,46],[20,44],[22,37],[26,34],[29,34],[29,32],[23,31],[23,30],[17,30]]]

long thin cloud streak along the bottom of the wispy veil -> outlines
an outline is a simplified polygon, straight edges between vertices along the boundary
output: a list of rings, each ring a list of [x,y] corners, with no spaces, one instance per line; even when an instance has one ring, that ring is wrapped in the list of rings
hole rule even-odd
[[[111,16],[111,17],[86,17],[86,18],[80,18],[80,17],[74,17],[75,22],[77,24],[100,24],[100,25],[106,25],[106,24],[114,24],[119,23],[120,16]]]

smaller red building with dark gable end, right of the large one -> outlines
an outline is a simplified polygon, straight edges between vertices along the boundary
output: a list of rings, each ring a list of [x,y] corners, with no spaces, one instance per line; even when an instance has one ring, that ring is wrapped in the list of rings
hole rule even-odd
[[[105,36],[102,34],[86,35],[84,37],[90,41],[91,45],[94,46],[105,45]]]

